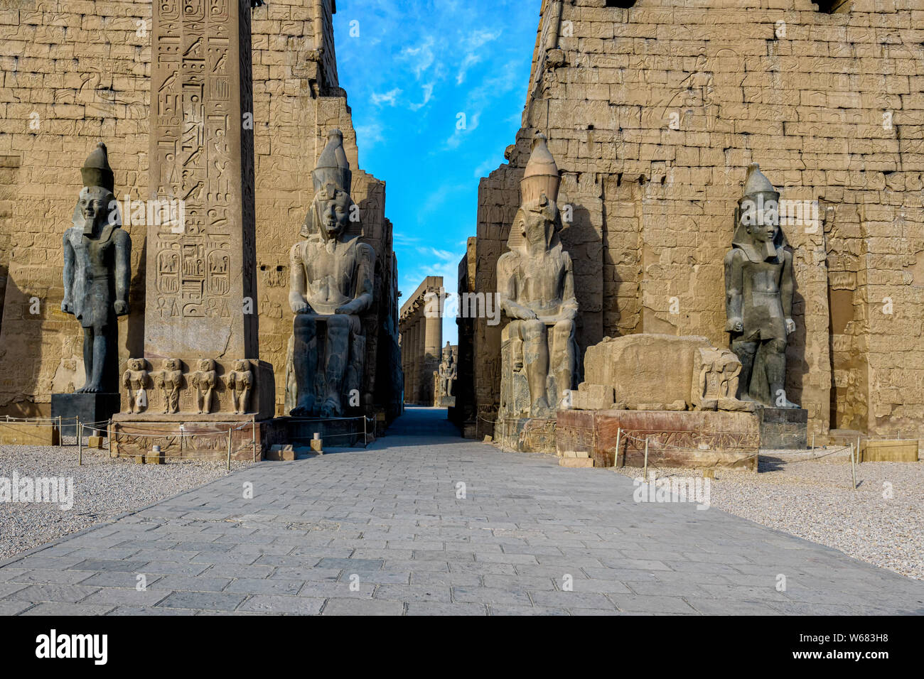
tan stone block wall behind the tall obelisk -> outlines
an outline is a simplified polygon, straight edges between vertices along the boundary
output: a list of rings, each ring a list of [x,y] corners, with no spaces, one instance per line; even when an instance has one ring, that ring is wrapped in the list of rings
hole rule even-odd
[[[0,412],[45,413],[52,393],[83,381],[79,324],[60,311],[61,238],[81,188],[79,167],[97,141],[109,149],[116,196],[147,198],[151,10],[150,2],[118,0],[0,5],[0,281],[8,269]],[[384,183],[359,169],[346,92],[337,82],[333,10],[333,0],[296,0],[270,3],[251,15],[261,273],[255,306],[260,358],[274,365],[280,413],[291,332],[288,250],[310,205],[310,170],[330,127],[344,132],[362,236],[378,255],[377,292],[395,285]],[[128,226],[132,311],[119,321],[123,363],[143,350],[145,231],[144,225]],[[41,302],[37,314],[30,313],[32,297]],[[394,300],[391,307],[394,327]],[[376,331],[384,321],[378,319]],[[375,346],[375,341],[367,346],[370,382]]]

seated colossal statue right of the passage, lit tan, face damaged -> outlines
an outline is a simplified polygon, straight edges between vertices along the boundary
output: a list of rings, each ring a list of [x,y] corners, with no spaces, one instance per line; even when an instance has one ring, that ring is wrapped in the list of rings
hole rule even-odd
[[[502,338],[500,417],[554,417],[575,379],[577,298],[571,258],[557,233],[559,181],[545,136],[537,134],[520,182],[510,251],[497,261],[498,303],[511,319]]]

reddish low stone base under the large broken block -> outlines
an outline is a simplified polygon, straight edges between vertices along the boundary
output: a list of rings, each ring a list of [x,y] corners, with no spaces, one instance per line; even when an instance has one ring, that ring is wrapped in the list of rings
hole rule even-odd
[[[616,450],[616,435],[619,450]],[[714,410],[559,410],[558,455],[586,453],[595,467],[732,467],[757,470],[760,424],[753,413]],[[579,459],[579,458],[577,458]]]

